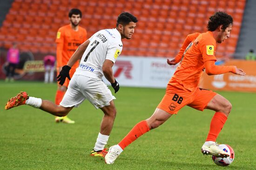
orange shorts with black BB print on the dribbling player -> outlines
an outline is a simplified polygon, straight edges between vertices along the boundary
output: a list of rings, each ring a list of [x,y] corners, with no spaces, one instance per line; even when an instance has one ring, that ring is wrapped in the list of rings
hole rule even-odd
[[[170,114],[177,114],[178,111],[186,105],[196,110],[203,111],[215,95],[215,92],[207,89],[195,88],[194,91],[187,92],[168,84],[165,95],[157,108]]]

